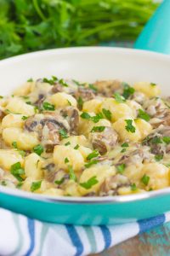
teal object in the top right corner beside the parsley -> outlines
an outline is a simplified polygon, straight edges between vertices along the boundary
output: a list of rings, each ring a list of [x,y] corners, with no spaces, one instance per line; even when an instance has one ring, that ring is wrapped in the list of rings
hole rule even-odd
[[[134,48],[170,54],[170,0],[161,3],[139,35]]]

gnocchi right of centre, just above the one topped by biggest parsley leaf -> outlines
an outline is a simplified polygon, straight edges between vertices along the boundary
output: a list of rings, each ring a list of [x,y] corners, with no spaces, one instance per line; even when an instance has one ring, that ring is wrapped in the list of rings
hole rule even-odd
[[[100,110],[105,108],[111,111],[111,120],[115,122],[118,119],[133,118],[133,110],[127,106],[126,103],[116,102],[115,99],[105,99],[101,104]]]

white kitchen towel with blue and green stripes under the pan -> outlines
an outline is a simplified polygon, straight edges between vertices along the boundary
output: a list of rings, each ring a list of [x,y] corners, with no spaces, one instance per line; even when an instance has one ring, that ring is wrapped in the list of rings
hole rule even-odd
[[[99,253],[170,221],[170,212],[131,224],[48,224],[0,208],[1,256],[73,256]]]

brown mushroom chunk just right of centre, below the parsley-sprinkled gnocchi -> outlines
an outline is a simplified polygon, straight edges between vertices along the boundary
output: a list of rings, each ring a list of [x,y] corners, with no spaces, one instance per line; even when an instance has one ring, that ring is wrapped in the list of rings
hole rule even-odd
[[[105,130],[102,132],[92,132],[90,139],[93,147],[98,149],[100,154],[105,154],[107,151],[115,148],[118,136],[111,127],[105,127]]]

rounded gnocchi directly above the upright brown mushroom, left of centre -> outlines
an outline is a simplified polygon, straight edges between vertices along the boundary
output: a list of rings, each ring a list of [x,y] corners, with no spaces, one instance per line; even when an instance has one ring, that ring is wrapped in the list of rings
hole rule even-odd
[[[55,93],[53,96],[51,96],[50,100],[54,104],[55,108],[61,108],[65,106],[77,107],[77,100],[65,92]]]

